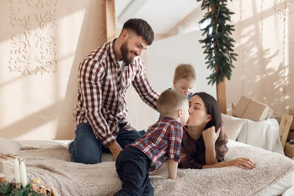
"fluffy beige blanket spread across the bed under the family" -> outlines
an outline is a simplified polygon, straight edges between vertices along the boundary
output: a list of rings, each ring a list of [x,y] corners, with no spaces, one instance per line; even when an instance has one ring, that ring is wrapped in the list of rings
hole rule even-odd
[[[167,179],[167,167],[151,173],[156,196],[254,196],[294,171],[294,161],[278,153],[228,143],[226,160],[249,157],[253,170],[226,167],[205,170],[179,170],[179,180]],[[28,176],[38,178],[62,196],[111,196],[122,186],[110,154],[102,163],[84,165],[70,162],[67,148],[29,148],[21,150],[26,158]]]

